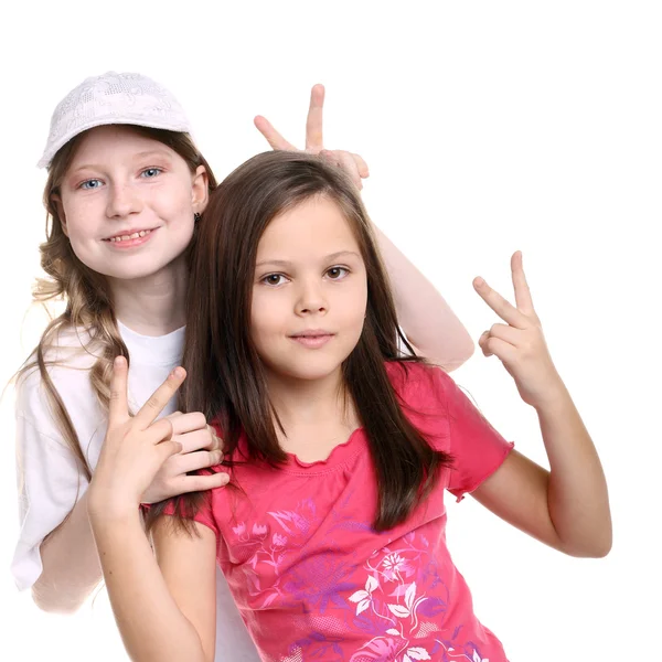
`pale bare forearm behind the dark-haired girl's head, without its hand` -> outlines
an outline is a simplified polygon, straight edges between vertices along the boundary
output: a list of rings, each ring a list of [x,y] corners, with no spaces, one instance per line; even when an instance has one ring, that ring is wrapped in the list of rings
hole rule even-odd
[[[467,329],[433,284],[375,225],[405,335],[418,352],[450,372],[473,353]]]

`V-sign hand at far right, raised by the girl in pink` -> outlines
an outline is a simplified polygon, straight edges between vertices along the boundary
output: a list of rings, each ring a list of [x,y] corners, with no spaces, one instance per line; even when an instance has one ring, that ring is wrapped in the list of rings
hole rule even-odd
[[[522,267],[522,254],[511,258],[515,306],[493,290],[482,278],[473,280],[476,291],[504,321],[493,324],[478,341],[485,356],[494,355],[514,378],[522,399],[540,407],[565,387],[547,350],[541,321],[533,308],[531,290]]]

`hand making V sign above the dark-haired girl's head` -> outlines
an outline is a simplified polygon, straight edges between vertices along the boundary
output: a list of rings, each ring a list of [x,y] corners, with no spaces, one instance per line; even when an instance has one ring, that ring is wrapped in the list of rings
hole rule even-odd
[[[321,154],[330,163],[342,168],[356,188],[361,190],[363,189],[362,180],[370,177],[367,164],[359,154],[345,150],[324,149],[323,108],[324,86],[313,85],[312,90],[310,92],[310,108],[308,109],[308,118],[306,120],[306,148],[303,150],[299,150],[291,142],[286,140],[273,127],[271,122],[261,115],[258,115],[255,118],[255,126],[273,149]]]

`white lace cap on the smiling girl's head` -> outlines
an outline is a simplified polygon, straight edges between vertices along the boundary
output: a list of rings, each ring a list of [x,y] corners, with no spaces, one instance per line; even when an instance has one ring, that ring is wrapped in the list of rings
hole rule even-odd
[[[72,138],[103,125],[122,124],[191,132],[179,102],[141,74],[108,72],[86,78],[57,104],[38,168],[47,168]]]

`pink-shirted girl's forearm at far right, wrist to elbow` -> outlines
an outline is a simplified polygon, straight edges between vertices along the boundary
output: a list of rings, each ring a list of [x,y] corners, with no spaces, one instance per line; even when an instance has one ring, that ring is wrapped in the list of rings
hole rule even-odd
[[[611,548],[611,515],[594,442],[565,386],[536,410],[549,459],[549,516],[558,537],[568,554],[605,556]]]

